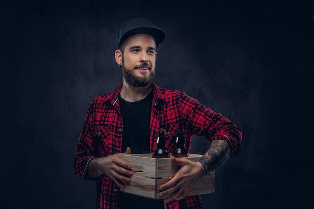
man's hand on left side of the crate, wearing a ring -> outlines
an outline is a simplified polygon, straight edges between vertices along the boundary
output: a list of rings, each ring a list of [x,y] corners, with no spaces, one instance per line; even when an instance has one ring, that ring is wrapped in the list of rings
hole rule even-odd
[[[107,157],[96,158],[95,163],[97,164],[100,173],[105,174],[111,178],[120,188],[124,189],[123,183],[130,182],[130,175],[133,175],[131,165],[120,159],[121,154],[131,154],[131,149],[126,148],[126,152],[109,155]],[[94,159],[91,160],[92,163]],[[123,182],[123,183],[122,183]]]

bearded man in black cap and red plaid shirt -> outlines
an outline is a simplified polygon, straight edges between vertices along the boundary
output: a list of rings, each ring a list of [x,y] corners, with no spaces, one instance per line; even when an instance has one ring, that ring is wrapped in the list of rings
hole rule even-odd
[[[126,21],[118,35],[115,61],[123,82],[114,91],[91,102],[74,156],[74,175],[97,181],[96,208],[204,208],[199,195],[187,196],[195,184],[241,150],[241,130],[226,117],[205,108],[185,92],[171,91],[153,83],[159,45],[166,33],[143,18]],[[175,176],[161,185],[160,196],[149,199],[119,191],[133,175],[121,154],[152,153],[158,131],[166,129],[166,148],[184,132],[191,148],[193,134],[211,142],[199,162],[172,158],[180,165]],[[121,151],[124,151],[121,153]]]

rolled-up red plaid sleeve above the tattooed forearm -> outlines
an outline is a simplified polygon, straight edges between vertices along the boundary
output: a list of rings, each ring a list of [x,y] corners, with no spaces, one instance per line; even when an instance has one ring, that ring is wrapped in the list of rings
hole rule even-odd
[[[181,111],[189,129],[195,135],[205,136],[207,140],[228,141],[233,149],[232,155],[241,150],[242,132],[229,119],[200,104],[198,100],[181,93]]]

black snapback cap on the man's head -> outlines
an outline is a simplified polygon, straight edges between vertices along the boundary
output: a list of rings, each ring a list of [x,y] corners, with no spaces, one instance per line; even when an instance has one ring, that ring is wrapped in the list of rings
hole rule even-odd
[[[144,18],[134,18],[123,23],[119,32],[117,47],[119,48],[124,40],[135,34],[148,34],[152,36],[156,41],[156,48],[158,48],[166,38],[166,32],[164,30],[155,27]]]

